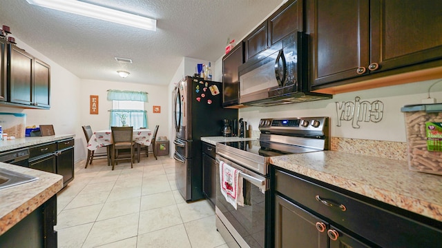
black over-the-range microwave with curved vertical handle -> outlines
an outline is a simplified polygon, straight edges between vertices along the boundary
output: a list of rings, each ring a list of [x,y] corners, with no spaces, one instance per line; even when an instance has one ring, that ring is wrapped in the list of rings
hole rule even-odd
[[[240,65],[240,103],[271,106],[331,99],[309,92],[308,38],[294,32]]]

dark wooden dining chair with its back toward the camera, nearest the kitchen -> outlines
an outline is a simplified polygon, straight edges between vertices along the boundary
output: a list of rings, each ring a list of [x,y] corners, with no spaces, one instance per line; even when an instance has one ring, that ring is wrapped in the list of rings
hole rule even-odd
[[[122,160],[131,160],[131,168],[133,168],[134,161],[134,146],[135,142],[133,142],[133,127],[111,127],[112,132],[112,170],[115,168],[115,163]],[[121,149],[130,149],[131,156],[121,156],[123,154],[119,154]]]

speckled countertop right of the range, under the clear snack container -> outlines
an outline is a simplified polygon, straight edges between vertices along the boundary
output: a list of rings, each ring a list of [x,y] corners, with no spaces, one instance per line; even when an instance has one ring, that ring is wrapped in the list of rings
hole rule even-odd
[[[442,221],[442,176],[412,172],[406,161],[325,151],[276,156],[271,163]]]

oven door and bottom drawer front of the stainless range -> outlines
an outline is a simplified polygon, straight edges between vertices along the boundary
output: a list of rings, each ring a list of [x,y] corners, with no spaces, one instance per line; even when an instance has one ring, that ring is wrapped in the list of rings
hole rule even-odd
[[[265,202],[267,178],[251,172],[222,156],[216,156],[216,227],[229,247],[265,247]],[[221,194],[220,161],[240,169],[244,206],[235,209]],[[223,231],[227,230],[227,231]]]

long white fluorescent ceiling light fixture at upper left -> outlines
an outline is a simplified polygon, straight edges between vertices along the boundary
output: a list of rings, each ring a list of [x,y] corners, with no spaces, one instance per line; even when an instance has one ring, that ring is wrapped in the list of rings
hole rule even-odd
[[[157,20],[77,0],[26,0],[28,3],[85,17],[156,31]]]

